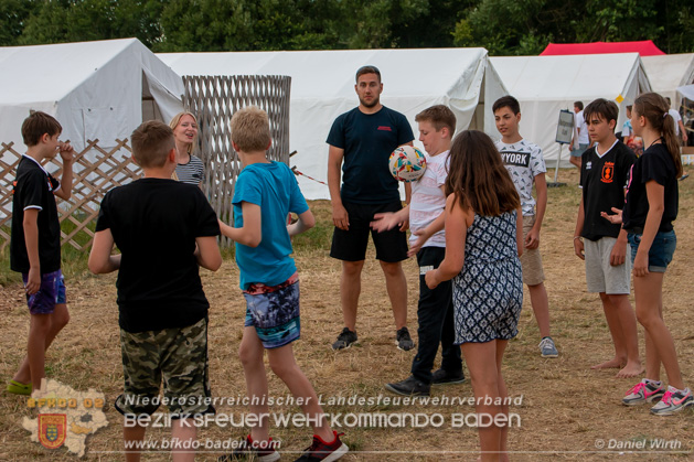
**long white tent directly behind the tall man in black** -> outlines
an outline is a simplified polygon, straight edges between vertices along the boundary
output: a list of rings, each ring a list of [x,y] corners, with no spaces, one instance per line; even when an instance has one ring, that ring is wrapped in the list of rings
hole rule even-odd
[[[332,121],[354,108],[354,74],[363,65],[378,67],[382,103],[410,121],[418,138],[415,115],[448,105],[458,129],[493,130],[490,101],[505,90],[489,65],[483,49],[356,50],[311,52],[171,53],[158,55],[180,75],[288,75],[290,150],[292,164],[307,175],[325,181]],[[483,103],[487,105],[483,106]],[[478,110],[479,108],[479,110]],[[418,141],[417,141],[418,143]],[[328,187],[300,176],[308,198],[329,198]]]

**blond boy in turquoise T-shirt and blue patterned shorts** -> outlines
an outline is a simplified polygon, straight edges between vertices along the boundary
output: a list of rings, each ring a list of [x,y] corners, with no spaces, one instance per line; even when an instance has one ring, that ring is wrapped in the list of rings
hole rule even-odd
[[[232,144],[244,169],[234,186],[234,227],[222,222],[220,227],[224,236],[236,241],[236,262],[247,307],[238,355],[252,398],[250,411],[260,418],[245,443],[220,460],[279,459],[270,442],[267,419],[261,418],[269,415],[263,399],[268,396],[263,362],[267,351],[270,368],[295,397],[303,398],[301,409],[313,422],[313,443],[298,460],[335,461],[349,449],[322,417],[316,390],[297,365],[291,348],[291,343],[299,339],[301,324],[299,278],[289,256],[290,236],[311,228],[316,221],[291,170],[281,162],[267,160],[270,143],[265,111],[248,107],[234,114]],[[299,219],[287,225],[290,212],[298,214]]]

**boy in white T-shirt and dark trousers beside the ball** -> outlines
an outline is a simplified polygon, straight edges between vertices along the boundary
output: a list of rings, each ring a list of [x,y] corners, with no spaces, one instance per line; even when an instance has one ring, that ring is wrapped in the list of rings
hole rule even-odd
[[[446,254],[445,183],[456,116],[448,107],[437,105],[417,114],[415,120],[419,125],[419,141],[427,151],[427,169],[413,183],[409,205],[396,213],[376,214],[372,227],[378,232],[392,229],[409,218],[412,235],[407,256],[416,255],[419,266],[419,341],[417,355],[412,363],[412,375],[402,382],[386,384],[385,388],[398,395],[428,396],[431,385],[459,384],[465,380],[460,347],[453,345],[451,281],[429,289],[424,280],[426,271],[438,268]],[[439,343],[441,367],[431,373]]]

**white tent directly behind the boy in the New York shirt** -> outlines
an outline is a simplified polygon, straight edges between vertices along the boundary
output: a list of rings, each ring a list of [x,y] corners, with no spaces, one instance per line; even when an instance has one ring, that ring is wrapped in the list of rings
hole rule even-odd
[[[490,58],[510,94],[521,103],[521,133],[537,143],[548,166],[556,165],[556,140],[560,109],[573,110],[574,101],[587,105],[596,98],[619,105],[616,131],[627,119],[626,106],[651,86],[638,53],[569,56],[504,56]],[[562,166],[568,166],[568,149],[562,150]]]

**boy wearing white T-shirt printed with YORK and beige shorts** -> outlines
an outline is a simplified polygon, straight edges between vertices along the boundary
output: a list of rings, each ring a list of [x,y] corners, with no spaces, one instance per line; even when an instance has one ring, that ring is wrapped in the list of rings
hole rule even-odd
[[[540,256],[540,228],[547,208],[545,180],[547,168],[540,147],[523,139],[519,132],[521,105],[517,99],[510,95],[503,96],[494,101],[492,110],[497,130],[501,133],[501,140],[497,141],[495,146],[521,196],[525,244],[521,255],[521,265],[523,266],[523,282],[527,286],[531,305],[542,337],[540,352],[542,357],[557,357],[558,352],[549,336],[549,302]],[[533,198],[533,184],[537,191],[537,201]]]

